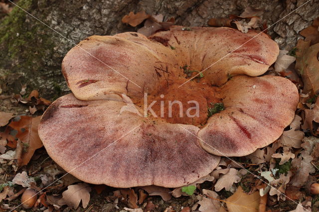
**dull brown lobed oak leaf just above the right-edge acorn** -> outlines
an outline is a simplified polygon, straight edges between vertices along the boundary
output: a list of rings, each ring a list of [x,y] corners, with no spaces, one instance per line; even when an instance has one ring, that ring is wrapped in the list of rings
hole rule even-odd
[[[313,157],[309,154],[310,153],[308,151],[304,150],[298,158],[292,160],[292,166],[297,168],[297,172],[291,180],[293,186],[303,186],[306,183],[309,174],[316,171],[314,166],[311,164]]]

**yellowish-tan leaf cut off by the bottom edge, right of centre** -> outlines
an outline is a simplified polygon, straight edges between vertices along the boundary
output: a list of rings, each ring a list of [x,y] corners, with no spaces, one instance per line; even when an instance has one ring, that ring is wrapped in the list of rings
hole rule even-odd
[[[259,192],[248,195],[241,187],[238,187],[226,201],[229,212],[258,212],[260,195]]]

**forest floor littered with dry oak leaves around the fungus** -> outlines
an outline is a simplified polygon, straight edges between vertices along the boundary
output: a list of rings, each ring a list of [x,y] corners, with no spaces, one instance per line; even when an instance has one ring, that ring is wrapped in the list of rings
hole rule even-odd
[[[135,21],[128,17],[126,23]],[[318,26],[319,19],[303,30],[305,39],[282,51],[266,73],[291,80],[300,92],[295,119],[280,138],[245,157],[222,157],[210,175],[187,187],[118,189],[76,179],[48,156],[37,134],[51,101],[35,90],[27,93],[27,85],[19,94],[0,90],[0,211],[318,212]],[[37,192],[22,204],[22,194],[28,199]]]

